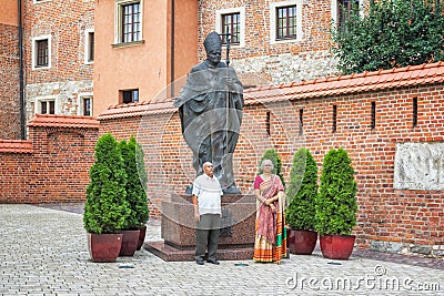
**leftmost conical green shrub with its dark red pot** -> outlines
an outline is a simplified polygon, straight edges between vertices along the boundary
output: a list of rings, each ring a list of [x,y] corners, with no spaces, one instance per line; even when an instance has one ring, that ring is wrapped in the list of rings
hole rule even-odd
[[[115,262],[122,245],[119,233],[130,214],[127,202],[127,173],[118,142],[111,134],[95,144],[94,164],[87,187],[83,226],[93,262]]]

